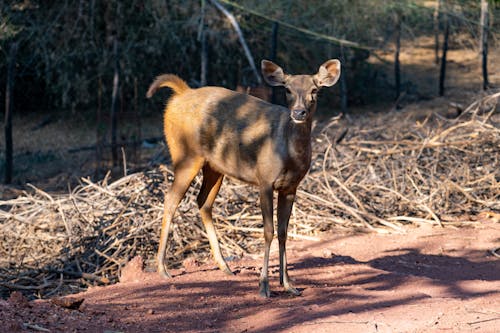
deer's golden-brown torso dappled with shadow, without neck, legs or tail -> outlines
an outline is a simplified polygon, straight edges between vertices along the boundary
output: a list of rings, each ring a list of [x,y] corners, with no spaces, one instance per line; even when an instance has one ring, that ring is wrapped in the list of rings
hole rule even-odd
[[[273,182],[282,172],[289,121],[284,107],[228,89],[204,87],[169,101],[165,134],[171,153],[188,149],[221,173],[259,184]]]

